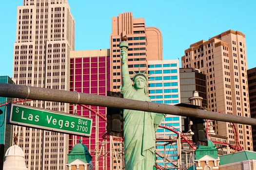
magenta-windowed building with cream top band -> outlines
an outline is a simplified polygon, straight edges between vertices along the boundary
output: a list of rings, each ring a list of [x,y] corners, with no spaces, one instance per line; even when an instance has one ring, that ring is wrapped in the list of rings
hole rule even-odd
[[[70,91],[107,95],[110,90],[110,56],[109,49],[71,51],[70,53]],[[106,108],[90,106],[106,118]],[[92,155],[95,170],[111,170],[110,168],[110,140],[103,139],[106,131],[106,122],[95,113],[70,104],[70,114],[93,119],[91,137],[81,137],[81,141],[88,147]],[[80,136],[69,136],[69,150],[79,143]]]

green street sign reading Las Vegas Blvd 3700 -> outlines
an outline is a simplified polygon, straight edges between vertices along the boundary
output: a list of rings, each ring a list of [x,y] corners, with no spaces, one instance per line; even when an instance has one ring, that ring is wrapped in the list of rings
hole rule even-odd
[[[7,107],[10,124],[71,135],[91,136],[92,119],[21,104]]]

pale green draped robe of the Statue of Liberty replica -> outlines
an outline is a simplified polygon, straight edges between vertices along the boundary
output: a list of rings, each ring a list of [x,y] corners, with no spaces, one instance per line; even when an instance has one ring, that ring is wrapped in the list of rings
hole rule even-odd
[[[149,96],[139,94],[131,85],[121,87],[125,99],[150,101]],[[153,170],[155,165],[156,113],[124,109],[125,170]]]

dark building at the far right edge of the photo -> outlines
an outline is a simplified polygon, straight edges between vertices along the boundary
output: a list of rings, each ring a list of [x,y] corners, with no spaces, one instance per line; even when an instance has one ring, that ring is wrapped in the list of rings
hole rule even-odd
[[[256,68],[247,70],[251,118],[256,118]],[[253,148],[256,151],[256,127],[252,126]]]

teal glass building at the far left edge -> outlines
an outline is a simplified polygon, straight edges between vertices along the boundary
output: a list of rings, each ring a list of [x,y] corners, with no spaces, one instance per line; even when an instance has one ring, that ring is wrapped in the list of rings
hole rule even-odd
[[[14,84],[13,80],[9,76],[0,76],[0,83]],[[0,103],[2,104],[3,102],[7,102],[10,100],[12,100],[12,98],[0,97]],[[3,150],[1,149],[2,153],[0,154],[2,155],[0,155],[0,158],[3,158],[4,153],[6,153],[7,149],[12,145],[13,136],[12,125],[6,123],[6,106],[0,107],[0,110],[3,112],[2,114],[0,114],[0,144],[3,144],[1,146],[4,146]]]

